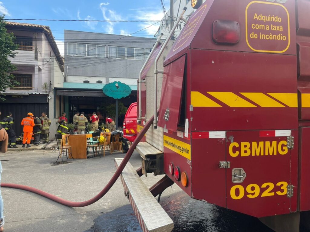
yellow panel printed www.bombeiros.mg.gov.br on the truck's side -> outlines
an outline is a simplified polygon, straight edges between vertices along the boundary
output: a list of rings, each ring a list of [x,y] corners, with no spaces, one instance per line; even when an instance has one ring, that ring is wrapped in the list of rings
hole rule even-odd
[[[191,145],[164,135],[164,147],[179,155],[191,159]]]

